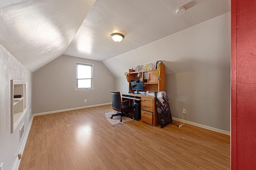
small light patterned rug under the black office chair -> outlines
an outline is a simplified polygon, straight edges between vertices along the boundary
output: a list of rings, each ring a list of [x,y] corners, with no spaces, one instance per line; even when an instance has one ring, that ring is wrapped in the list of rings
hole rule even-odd
[[[125,116],[122,117],[122,122],[120,122],[120,116],[115,116],[113,117],[113,119],[110,119],[111,115],[116,114],[116,111],[106,111],[104,113],[106,115],[108,122],[112,125],[112,127],[135,121],[134,119],[131,119]]]

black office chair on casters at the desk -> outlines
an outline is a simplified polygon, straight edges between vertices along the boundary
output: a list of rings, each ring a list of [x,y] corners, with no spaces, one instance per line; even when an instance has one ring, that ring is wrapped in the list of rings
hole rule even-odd
[[[130,100],[121,101],[120,92],[113,92],[110,90],[111,97],[112,97],[112,109],[117,111],[116,114],[111,115],[111,119],[114,116],[121,116],[120,121],[122,121],[122,116],[130,117],[133,119],[133,116],[128,114],[130,111]],[[118,113],[119,112],[119,113]]]

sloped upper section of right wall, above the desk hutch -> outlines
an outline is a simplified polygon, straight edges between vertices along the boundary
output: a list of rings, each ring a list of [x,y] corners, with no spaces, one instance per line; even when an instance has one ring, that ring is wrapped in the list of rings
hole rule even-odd
[[[128,68],[158,60],[165,64],[166,74],[230,68],[230,12],[103,63],[122,78]]]

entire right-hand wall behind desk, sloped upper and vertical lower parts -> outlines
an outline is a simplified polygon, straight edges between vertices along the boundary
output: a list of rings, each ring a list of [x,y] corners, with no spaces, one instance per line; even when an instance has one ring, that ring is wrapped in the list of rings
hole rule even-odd
[[[230,12],[104,64],[120,63],[114,76],[117,90],[126,93],[124,72],[158,60],[166,66],[165,86],[173,117],[182,119],[184,108],[188,121],[230,131]]]

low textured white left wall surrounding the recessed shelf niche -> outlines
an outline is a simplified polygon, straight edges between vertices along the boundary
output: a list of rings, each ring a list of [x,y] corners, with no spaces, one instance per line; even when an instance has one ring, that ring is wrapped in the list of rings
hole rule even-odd
[[[11,99],[10,99],[10,80],[22,80],[28,82],[28,111],[23,117],[14,133],[11,134]],[[32,106],[32,74],[15,57],[13,57],[4,47],[0,45],[0,162],[4,162],[4,169],[11,170],[18,159],[18,153],[28,124],[32,117],[29,114]],[[19,129],[22,123],[24,135],[20,142]]]

